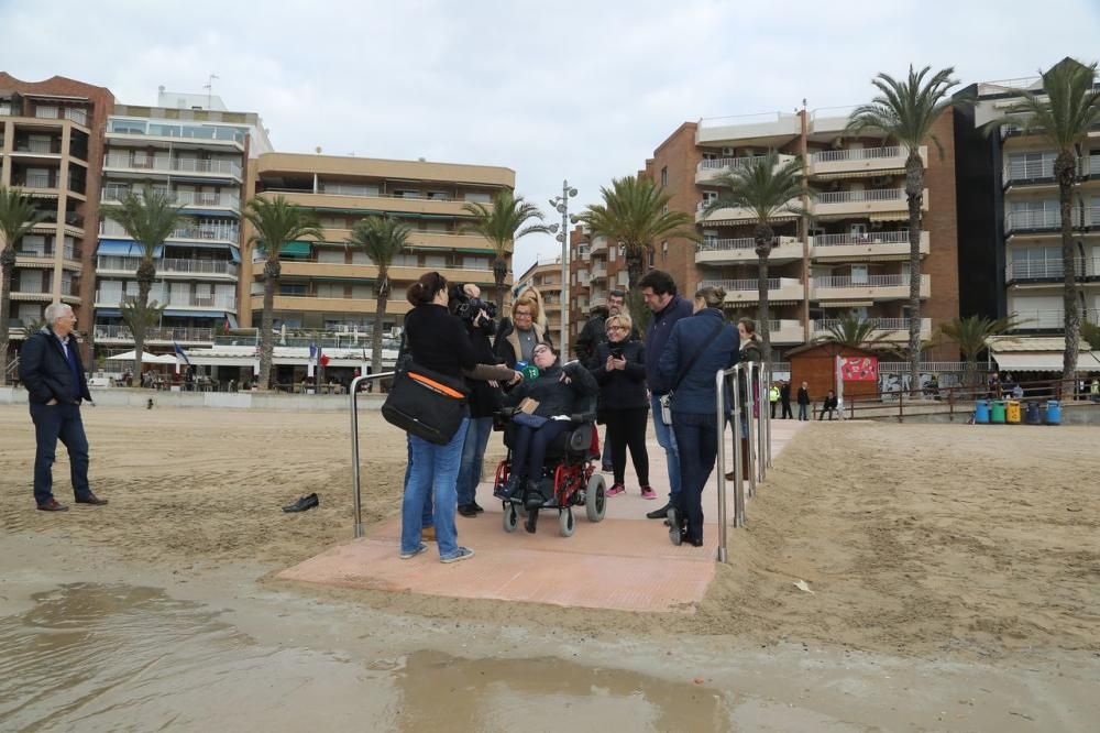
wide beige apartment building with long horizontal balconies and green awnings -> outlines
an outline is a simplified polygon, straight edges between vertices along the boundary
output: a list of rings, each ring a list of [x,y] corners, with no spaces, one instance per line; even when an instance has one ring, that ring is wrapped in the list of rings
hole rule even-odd
[[[376,309],[377,267],[345,242],[356,221],[399,217],[413,232],[406,251],[391,265],[392,292],[383,326],[400,326],[411,307],[406,288],[432,270],[454,283],[476,283],[493,293],[493,244],[462,232],[471,219],[468,201],[490,205],[493,194],[515,187],[509,168],[426,161],[268,153],[249,180],[250,195],[283,196],[314,211],[324,239],[287,244],[275,295],[277,327],[324,331],[369,331]],[[243,233],[248,242],[249,228]],[[257,326],[263,311],[264,262],[245,244],[251,267],[249,296],[241,303],[243,326]],[[512,277],[506,281],[510,286]]]

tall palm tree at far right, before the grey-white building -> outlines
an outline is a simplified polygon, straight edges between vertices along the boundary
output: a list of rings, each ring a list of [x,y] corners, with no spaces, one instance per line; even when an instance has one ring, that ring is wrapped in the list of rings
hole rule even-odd
[[[1088,66],[1072,58],[1064,58],[1043,76],[1043,92],[1036,95],[1021,89],[1022,99],[1008,114],[1022,116],[997,120],[987,127],[996,130],[1007,122],[1022,122],[1025,132],[1036,132],[1046,138],[1057,152],[1054,158],[1054,179],[1058,183],[1058,204],[1062,209],[1062,304],[1066,350],[1063,353],[1062,379],[1077,376],[1077,354],[1080,350],[1081,314],[1077,303],[1077,267],[1074,256],[1072,193],[1078,183],[1078,160],[1081,145],[1089,131],[1100,124],[1100,88],[1094,86],[1097,64]],[[1087,216],[1085,211],[1080,216]],[[1084,221],[1081,223],[1085,223]]]

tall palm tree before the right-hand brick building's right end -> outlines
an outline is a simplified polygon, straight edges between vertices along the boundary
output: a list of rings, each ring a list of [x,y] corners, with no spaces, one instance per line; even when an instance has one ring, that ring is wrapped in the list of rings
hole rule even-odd
[[[847,132],[865,130],[888,135],[909,149],[905,160],[905,198],[909,201],[909,372],[910,384],[920,384],[921,364],[921,208],[924,199],[924,161],[921,143],[931,139],[944,155],[944,145],[932,132],[936,121],[952,107],[961,103],[948,96],[958,84],[952,78],[954,67],[928,76],[909,67],[909,77],[894,79],[879,74],[871,84],[879,90],[869,105],[860,105],[848,121]]]

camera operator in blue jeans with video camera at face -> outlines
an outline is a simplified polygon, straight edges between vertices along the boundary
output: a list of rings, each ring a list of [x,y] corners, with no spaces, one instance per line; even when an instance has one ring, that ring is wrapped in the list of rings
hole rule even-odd
[[[473,283],[451,291],[451,309],[466,327],[479,363],[494,364],[501,360],[493,353],[490,337],[496,331],[496,305],[481,299],[481,288]],[[462,446],[459,467],[459,514],[475,517],[484,512],[477,504],[477,484],[482,478],[485,447],[493,431],[493,413],[499,408],[503,393],[495,381],[466,379],[470,385],[470,427]]]

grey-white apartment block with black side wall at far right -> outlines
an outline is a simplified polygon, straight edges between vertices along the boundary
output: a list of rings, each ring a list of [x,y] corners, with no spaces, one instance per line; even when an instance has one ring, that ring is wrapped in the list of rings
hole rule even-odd
[[[1077,63],[1065,59],[1062,63]],[[1056,151],[1041,133],[1007,121],[1020,90],[1042,96],[1031,77],[971,85],[975,99],[959,112],[960,306],[964,315],[1014,314],[1019,332],[1062,335],[1064,325],[1062,212],[1054,179]],[[1079,156],[1072,200],[1078,304],[1100,322],[1100,130]]]

